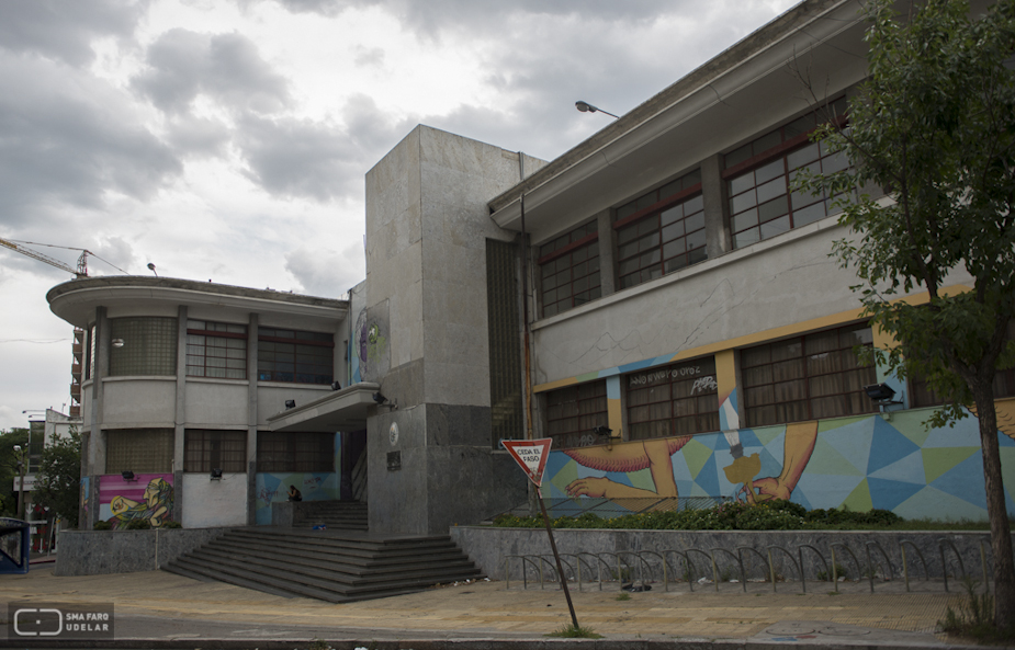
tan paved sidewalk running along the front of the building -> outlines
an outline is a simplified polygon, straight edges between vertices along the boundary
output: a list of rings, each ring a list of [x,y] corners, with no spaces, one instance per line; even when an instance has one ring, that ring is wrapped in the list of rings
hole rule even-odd
[[[528,590],[512,581],[471,582],[404,596],[349,604],[285,598],[218,582],[200,582],[165,571],[55,577],[52,566],[26,575],[0,577],[0,646],[10,640],[5,603],[113,603],[116,640],[103,648],[308,648],[314,639],[332,648],[945,648],[954,641],[934,632],[949,603],[940,583],[686,584],[664,592],[620,596],[617,583],[598,591],[572,588],[578,622],[604,635],[598,642],[548,639],[571,622],[560,589]],[[918,591],[917,591],[918,590]],[[75,647],[80,647],[79,642]],[[42,646],[37,646],[42,647]],[[49,643],[46,647],[59,647]],[[322,646],[323,647],[323,646]]]

